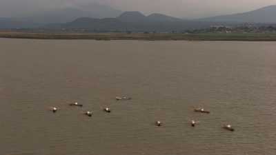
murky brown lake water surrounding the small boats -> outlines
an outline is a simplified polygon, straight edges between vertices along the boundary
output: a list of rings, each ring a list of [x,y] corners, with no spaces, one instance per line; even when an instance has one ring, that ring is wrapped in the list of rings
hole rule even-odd
[[[273,42],[0,39],[2,155],[275,155],[275,104]]]

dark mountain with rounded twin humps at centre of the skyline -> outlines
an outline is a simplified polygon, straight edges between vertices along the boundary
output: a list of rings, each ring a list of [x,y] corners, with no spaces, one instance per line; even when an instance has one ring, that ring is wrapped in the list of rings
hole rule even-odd
[[[117,18],[79,18],[59,26],[55,25],[55,28],[101,32],[183,32],[193,28],[206,28],[213,24],[213,22],[185,21],[164,14],[145,16],[141,12],[124,12]]]

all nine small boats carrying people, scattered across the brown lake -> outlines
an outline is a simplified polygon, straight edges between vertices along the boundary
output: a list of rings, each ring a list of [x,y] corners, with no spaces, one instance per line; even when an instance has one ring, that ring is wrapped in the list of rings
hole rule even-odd
[[[128,96],[120,96],[120,97],[116,97],[115,98],[117,101],[128,101],[128,100],[131,100],[132,98],[131,97],[128,97]],[[75,106],[75,107],[83,107],[83,105],[82,104],[79,104],[79,103],[77,103],[77,102],[75,102],[75,103],[70,103],[69,104],[70,106]],[[59,110],[59,108],[57,108],[57,107],[52,107],[51,108],[51,110],[52,110],[52,112],[57,112],[57,110]],[[103,108],[103,112],[108,112],[108,113],[110,113],[111,112],[111,110],[110,110],[110,108],[109,107],[105,107],[105,108]],[[204,108],[196,108],[195,110],[194,110],[194,112],[200,112],[200,113],[205,113],[205,114],[210,114],[210,111],[207,111],[207,110],[204,110]],[[92,116],[92,112],[91,111],[87,111],[87,112],[84,112],[83,114],[85,114],[86,116]],[[192,127],[195,127],[195,125],[197,125],[199,123],[199,121],[195,121],[195,120],[192,120],[192,121],[190,121],[190,125],[192,126]],[[157,127],[161,127],[162,125],[163,125],[163,123],[161,123],[161,121],[155,121],[155,125],[157,126]],[[233,131],[235,131],[235,129],[232,127],[232,125],[223,125],[223,128],[224,129],[226,129],[226,130],[229,130],[229,131],[231,131],[231,132],[233,132]]]

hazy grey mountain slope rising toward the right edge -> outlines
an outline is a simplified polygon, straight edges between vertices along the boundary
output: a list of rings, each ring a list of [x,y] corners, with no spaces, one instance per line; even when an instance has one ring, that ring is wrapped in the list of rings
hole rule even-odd
[[[200,21],[226,21],[239,23],[276,23],[276,6],[266,6],[250,12],[199,19]]]

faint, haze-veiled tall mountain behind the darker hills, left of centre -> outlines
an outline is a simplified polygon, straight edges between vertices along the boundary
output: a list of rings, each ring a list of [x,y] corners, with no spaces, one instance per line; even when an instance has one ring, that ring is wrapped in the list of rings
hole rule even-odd
[[[23,19],[34,23],[66,23],[80,17],[113,18],[119,16],[121,13],[120,10],[116,10],[110,6],[103,6],[98,3],[84,3],[48,12],[37,12],[35,16]]]

